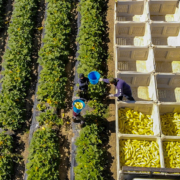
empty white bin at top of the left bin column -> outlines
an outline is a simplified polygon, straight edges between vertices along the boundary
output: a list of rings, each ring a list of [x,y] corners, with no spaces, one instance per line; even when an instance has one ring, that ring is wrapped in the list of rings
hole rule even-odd
[[[146,21],[149,10],[146,4],[144,0],[118,1],[115,7],[115,18],[117,21]]]

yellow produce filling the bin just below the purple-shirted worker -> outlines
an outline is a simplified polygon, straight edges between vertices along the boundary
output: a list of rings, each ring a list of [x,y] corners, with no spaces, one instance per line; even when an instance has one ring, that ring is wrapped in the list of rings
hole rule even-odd
[[[154,135],[153,120],[150,115],[134,111],[130,108],[121,108],[119,115],[119,131],[125,134]]]

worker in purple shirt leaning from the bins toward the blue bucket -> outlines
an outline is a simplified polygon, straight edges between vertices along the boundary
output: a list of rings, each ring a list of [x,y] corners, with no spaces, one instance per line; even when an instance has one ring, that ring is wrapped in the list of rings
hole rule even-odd
[[[123,96],[129,101],[135,101],[132,97],[131,87],[122,79],[119,78],[109,78],[102,79],[99,81],[104,81],[105,83],[113,84],[118,90],[117,94],[110,94],[109,97],[118,97],[118,101],[122,101]]]

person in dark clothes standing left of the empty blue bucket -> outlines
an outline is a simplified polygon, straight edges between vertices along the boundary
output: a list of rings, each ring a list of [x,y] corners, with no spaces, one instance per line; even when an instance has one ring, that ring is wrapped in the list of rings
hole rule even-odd
[[[88,84],[89,79],[84,77],[84,74],[79,74],[79,90],[82,92],[80,93],[81,98],[87,98]]]

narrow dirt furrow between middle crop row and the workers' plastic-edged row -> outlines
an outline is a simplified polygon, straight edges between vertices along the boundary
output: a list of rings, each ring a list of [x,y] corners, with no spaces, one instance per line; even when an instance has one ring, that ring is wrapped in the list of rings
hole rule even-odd
[[[76,35],[77,35],[77,11],[76,3],[73,6],[72,11],[72,36],[71,36],[71,50],[69,63],[66,65],[66,73],[68,81],[65,87],[67,92],[66,96],[66,107],[61,111],[61,117],[64,117],[64,125],[60,130],[60,155],[61,163],[59,168],[60,180],[70,180],[70,152],[71,152],[71,139],[73,137],[73,132],[71,128],[72,120],[72,95],[74,87],[74,66],[76,61]]]

